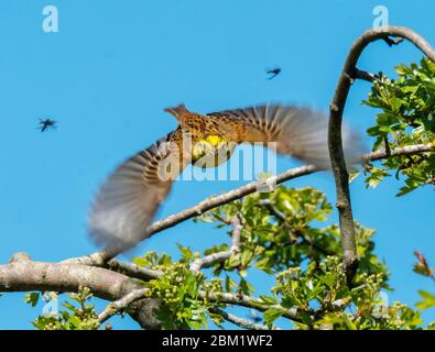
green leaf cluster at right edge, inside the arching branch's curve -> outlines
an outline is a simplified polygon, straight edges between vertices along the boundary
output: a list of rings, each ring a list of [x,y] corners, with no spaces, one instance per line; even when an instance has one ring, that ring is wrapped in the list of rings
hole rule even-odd
[[[410,144],[435,143],[435,63],[423,58],[420,65],[399,65],[399,78],[379,74],[365,105],[381,109],[368,134],[376,138],[373,151]],[[404,176],[398,196],[420,186],[435,184],[435,153],[395,156],[382,161],[382,167],[366,166],[367,186],[376,187],[389,170]]]

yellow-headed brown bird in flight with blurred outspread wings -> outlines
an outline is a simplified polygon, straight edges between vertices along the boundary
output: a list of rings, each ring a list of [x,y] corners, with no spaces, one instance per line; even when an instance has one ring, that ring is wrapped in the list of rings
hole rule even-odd
[[[257,106],[204,116],[180,105],[165,111],[176,118],[177,129],[122,163],[95,198],[89,232],[108,251],[128,250],[146,238],[173,180],[189,163],[217,166],[236,144],[275,142],[280,154],[329,168],[328,120],[311,109]],[[356,162],[359,139],[342,132],[347,160]]]

